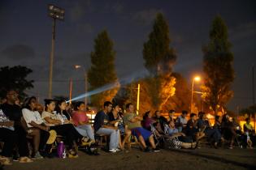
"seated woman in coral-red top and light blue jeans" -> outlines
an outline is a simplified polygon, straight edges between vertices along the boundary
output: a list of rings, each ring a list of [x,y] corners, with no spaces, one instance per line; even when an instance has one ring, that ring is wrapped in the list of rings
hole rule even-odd
[[[63,106],[63,110],[64,110],[64,106]],[[79,101],[76,103],[75,110],[72,113],[72,120],[74,122],[74,125],[76,125],[76,129],[78,130],[78,132],[80,132],[80,130],[85,131],[85,134],[82,134],[82,135],[87,136],[89,138],[89,141],[87,141],[87,142],[89,144],[94,143],[95,142],[94,132],[93,132],[92,125],[90,125],[90,123],[89,123],[89,118],[87,117],[87,115],[85,113],[85,103],[84,102]]]

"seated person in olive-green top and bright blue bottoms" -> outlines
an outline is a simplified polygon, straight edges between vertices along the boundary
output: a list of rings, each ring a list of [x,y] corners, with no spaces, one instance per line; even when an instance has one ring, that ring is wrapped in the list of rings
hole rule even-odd
[[[124,124],[128,126],[128,129],[132,131],[132,135],[135,135],[138,141],[141,143],[144,151],[150,151],[150,148],[145,145],[145,141],[149,141],[153,151],[159,151],[154,144],[153,134],[149,130],[145,130],[141,127],[141,121],[143,118],[137,116],[134,113],[134,106],[132,103],[126,105],[126,113],[124,113]]]

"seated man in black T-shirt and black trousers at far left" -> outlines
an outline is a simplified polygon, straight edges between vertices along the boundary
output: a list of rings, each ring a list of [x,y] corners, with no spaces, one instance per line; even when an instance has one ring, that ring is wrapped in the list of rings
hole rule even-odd
[[[21,124],[21,108],[15,104],[18,93],[15,90],[7,91],[7,101],[0,108],[0,137],[4,142],[2,156],[11,157],[12,151],[18,146],[20,163],[31,163],[32,159],[28,158],[27,132]],[[7,164],[11,164],[10,159],[6,159]]]

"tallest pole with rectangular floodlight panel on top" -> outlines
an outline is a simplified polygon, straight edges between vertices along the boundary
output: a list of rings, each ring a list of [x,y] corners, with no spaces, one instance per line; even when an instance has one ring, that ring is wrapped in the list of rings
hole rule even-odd
[[[55,22],[56,19],[64,20],[65,11],[52,4],[48,5],[48,15],[53,19],[52,38],[51,38],[51,51],[50,51],[50,71],[49,71],[49,94],[52,97],[52,81],[53,81],[53,67],[54,67],[54,41],[55,41]]]

